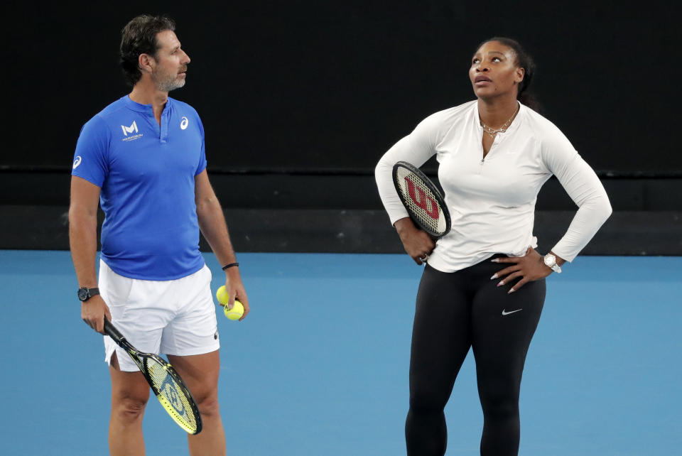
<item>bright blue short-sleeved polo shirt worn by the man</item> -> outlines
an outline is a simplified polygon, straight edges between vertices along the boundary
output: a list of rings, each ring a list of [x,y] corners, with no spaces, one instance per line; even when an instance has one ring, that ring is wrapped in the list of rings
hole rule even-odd
[[[121,276],[165,281],[199,271],[194,178],[206,168],[204,127],[168,98],[161,126],[151,104],[127,95],[83,126],[72,175],[102,188],[102,260]]]

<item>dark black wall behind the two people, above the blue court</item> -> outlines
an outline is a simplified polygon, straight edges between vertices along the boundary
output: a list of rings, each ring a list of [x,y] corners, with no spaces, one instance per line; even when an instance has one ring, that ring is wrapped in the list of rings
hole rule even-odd
[[[670,254],[671,245],[682,253],[679,3],[141,5],[7,7],[0,246],[67,248],[63,217],[80,127],[129,91],[118,67],[120,30],[138,13],[168,13],[192,59],[187,85],[171,96],[202,116],[212,182],[226,210],[242,211],[228,214],[241,249],[399,250],[393,234],[376,242],[390,227],[374,165],[428,114],[473,99],[467,69],[477,44],[510,36],[536,60],[541,113],[612,199],[616,213],[588,253]],[[433,174],[433,161],[426,170]],[[573,210],[551,180],[538,220],[558,223],[553,241]],[[48,217],[43,227],[34,213]]]

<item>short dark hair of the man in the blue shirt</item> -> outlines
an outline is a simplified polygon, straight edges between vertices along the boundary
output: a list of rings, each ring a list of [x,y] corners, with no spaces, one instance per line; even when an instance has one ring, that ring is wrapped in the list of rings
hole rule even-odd
[[[138,58],[140,54],[156,56],[160,48],[156,35],[166,30],[175,31],[175,21],[168,16],[141,14],[131,19],[121,31],[121,69],[130,86],[142,77]]]

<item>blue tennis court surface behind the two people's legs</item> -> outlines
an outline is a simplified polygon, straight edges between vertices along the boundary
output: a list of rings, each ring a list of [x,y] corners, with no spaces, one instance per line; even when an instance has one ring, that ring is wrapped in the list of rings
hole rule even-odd
[[[213,290],[224,276],[215,257]],[[414,296],[404,255],[240,254],[251,301],[219,319],[229,455],[402,455]],[[682,448],[682,257],[579,256],[548,278],[521,387],[521,455]],[[0,251],[3,455],[107,454],[102,338],[67,251]],[[445,409],[448,455],[478,455],[471,357]],[[151,399],[148,455],[185,455]]]

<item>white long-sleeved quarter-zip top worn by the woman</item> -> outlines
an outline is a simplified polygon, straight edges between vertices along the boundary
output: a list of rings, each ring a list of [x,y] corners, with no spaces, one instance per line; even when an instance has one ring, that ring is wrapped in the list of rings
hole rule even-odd
[[[458,271],[493,254],[523,256],[533,236],[535,202],[556,175],[578,205],[568,231],[552,251],[573,261],[611,215],[606,191],[561,131],[523,104],[507,131],[483,157],[477,100],[436,112],[381,157],[375,177],[391,224],[408,217],[391,178],[397,161],[421,166],[433,154],[452,228],[438,239],[428,264]]]

